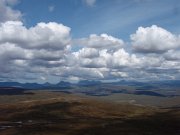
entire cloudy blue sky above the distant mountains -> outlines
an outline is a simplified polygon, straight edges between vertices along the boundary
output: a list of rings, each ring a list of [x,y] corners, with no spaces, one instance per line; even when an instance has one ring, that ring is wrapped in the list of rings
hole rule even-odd
[[[179,0],[0,0],[0,81],[180,79]]]

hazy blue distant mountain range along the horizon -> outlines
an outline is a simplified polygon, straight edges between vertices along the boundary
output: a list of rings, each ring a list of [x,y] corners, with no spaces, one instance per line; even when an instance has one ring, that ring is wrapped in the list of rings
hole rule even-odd
[[[57,84],[51,83],[19,83],[19,82],[0,82],[0,87],[17,87],[24,89],[70,89],[73,87],[89,87],[89,86],[101,86],[101,85],[124,85],[124,86],[138,86],[140,90],[155,89],[159,87],[180,87],[180,80],[165,80],[165,81],[126,81],[103,83],[101,81],[82,80],[78,83],[70,83],[61,81]]]

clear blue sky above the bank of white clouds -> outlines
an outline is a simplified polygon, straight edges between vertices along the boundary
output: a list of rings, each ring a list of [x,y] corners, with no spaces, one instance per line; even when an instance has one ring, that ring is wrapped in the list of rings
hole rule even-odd
[[[71,27],[73,37],[108,33],[128,40],[139,26],[154,24],[180,31],[179,0],[97,0],[92,6],[83,0],[22,0],[16,9],[24,14],[28,27],[55,21]]]

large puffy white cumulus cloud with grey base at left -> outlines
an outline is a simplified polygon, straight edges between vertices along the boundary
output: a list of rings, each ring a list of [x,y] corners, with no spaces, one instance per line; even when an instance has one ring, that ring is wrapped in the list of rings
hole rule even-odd
[[[64,49],[70,40],[70,28],[55,22],[41,22],[29,29],[19,21],[0,24],[0,43],[10,42],[32,49]]]

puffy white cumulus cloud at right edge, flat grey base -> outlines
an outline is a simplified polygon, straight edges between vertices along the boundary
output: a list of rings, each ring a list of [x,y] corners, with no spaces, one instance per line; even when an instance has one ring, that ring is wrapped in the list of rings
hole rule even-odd
[[[151,27],[139,27],[135,34],[131,35],[132,45],[138,52],[159,53],[180,47],[179,36],[153,25]]]

